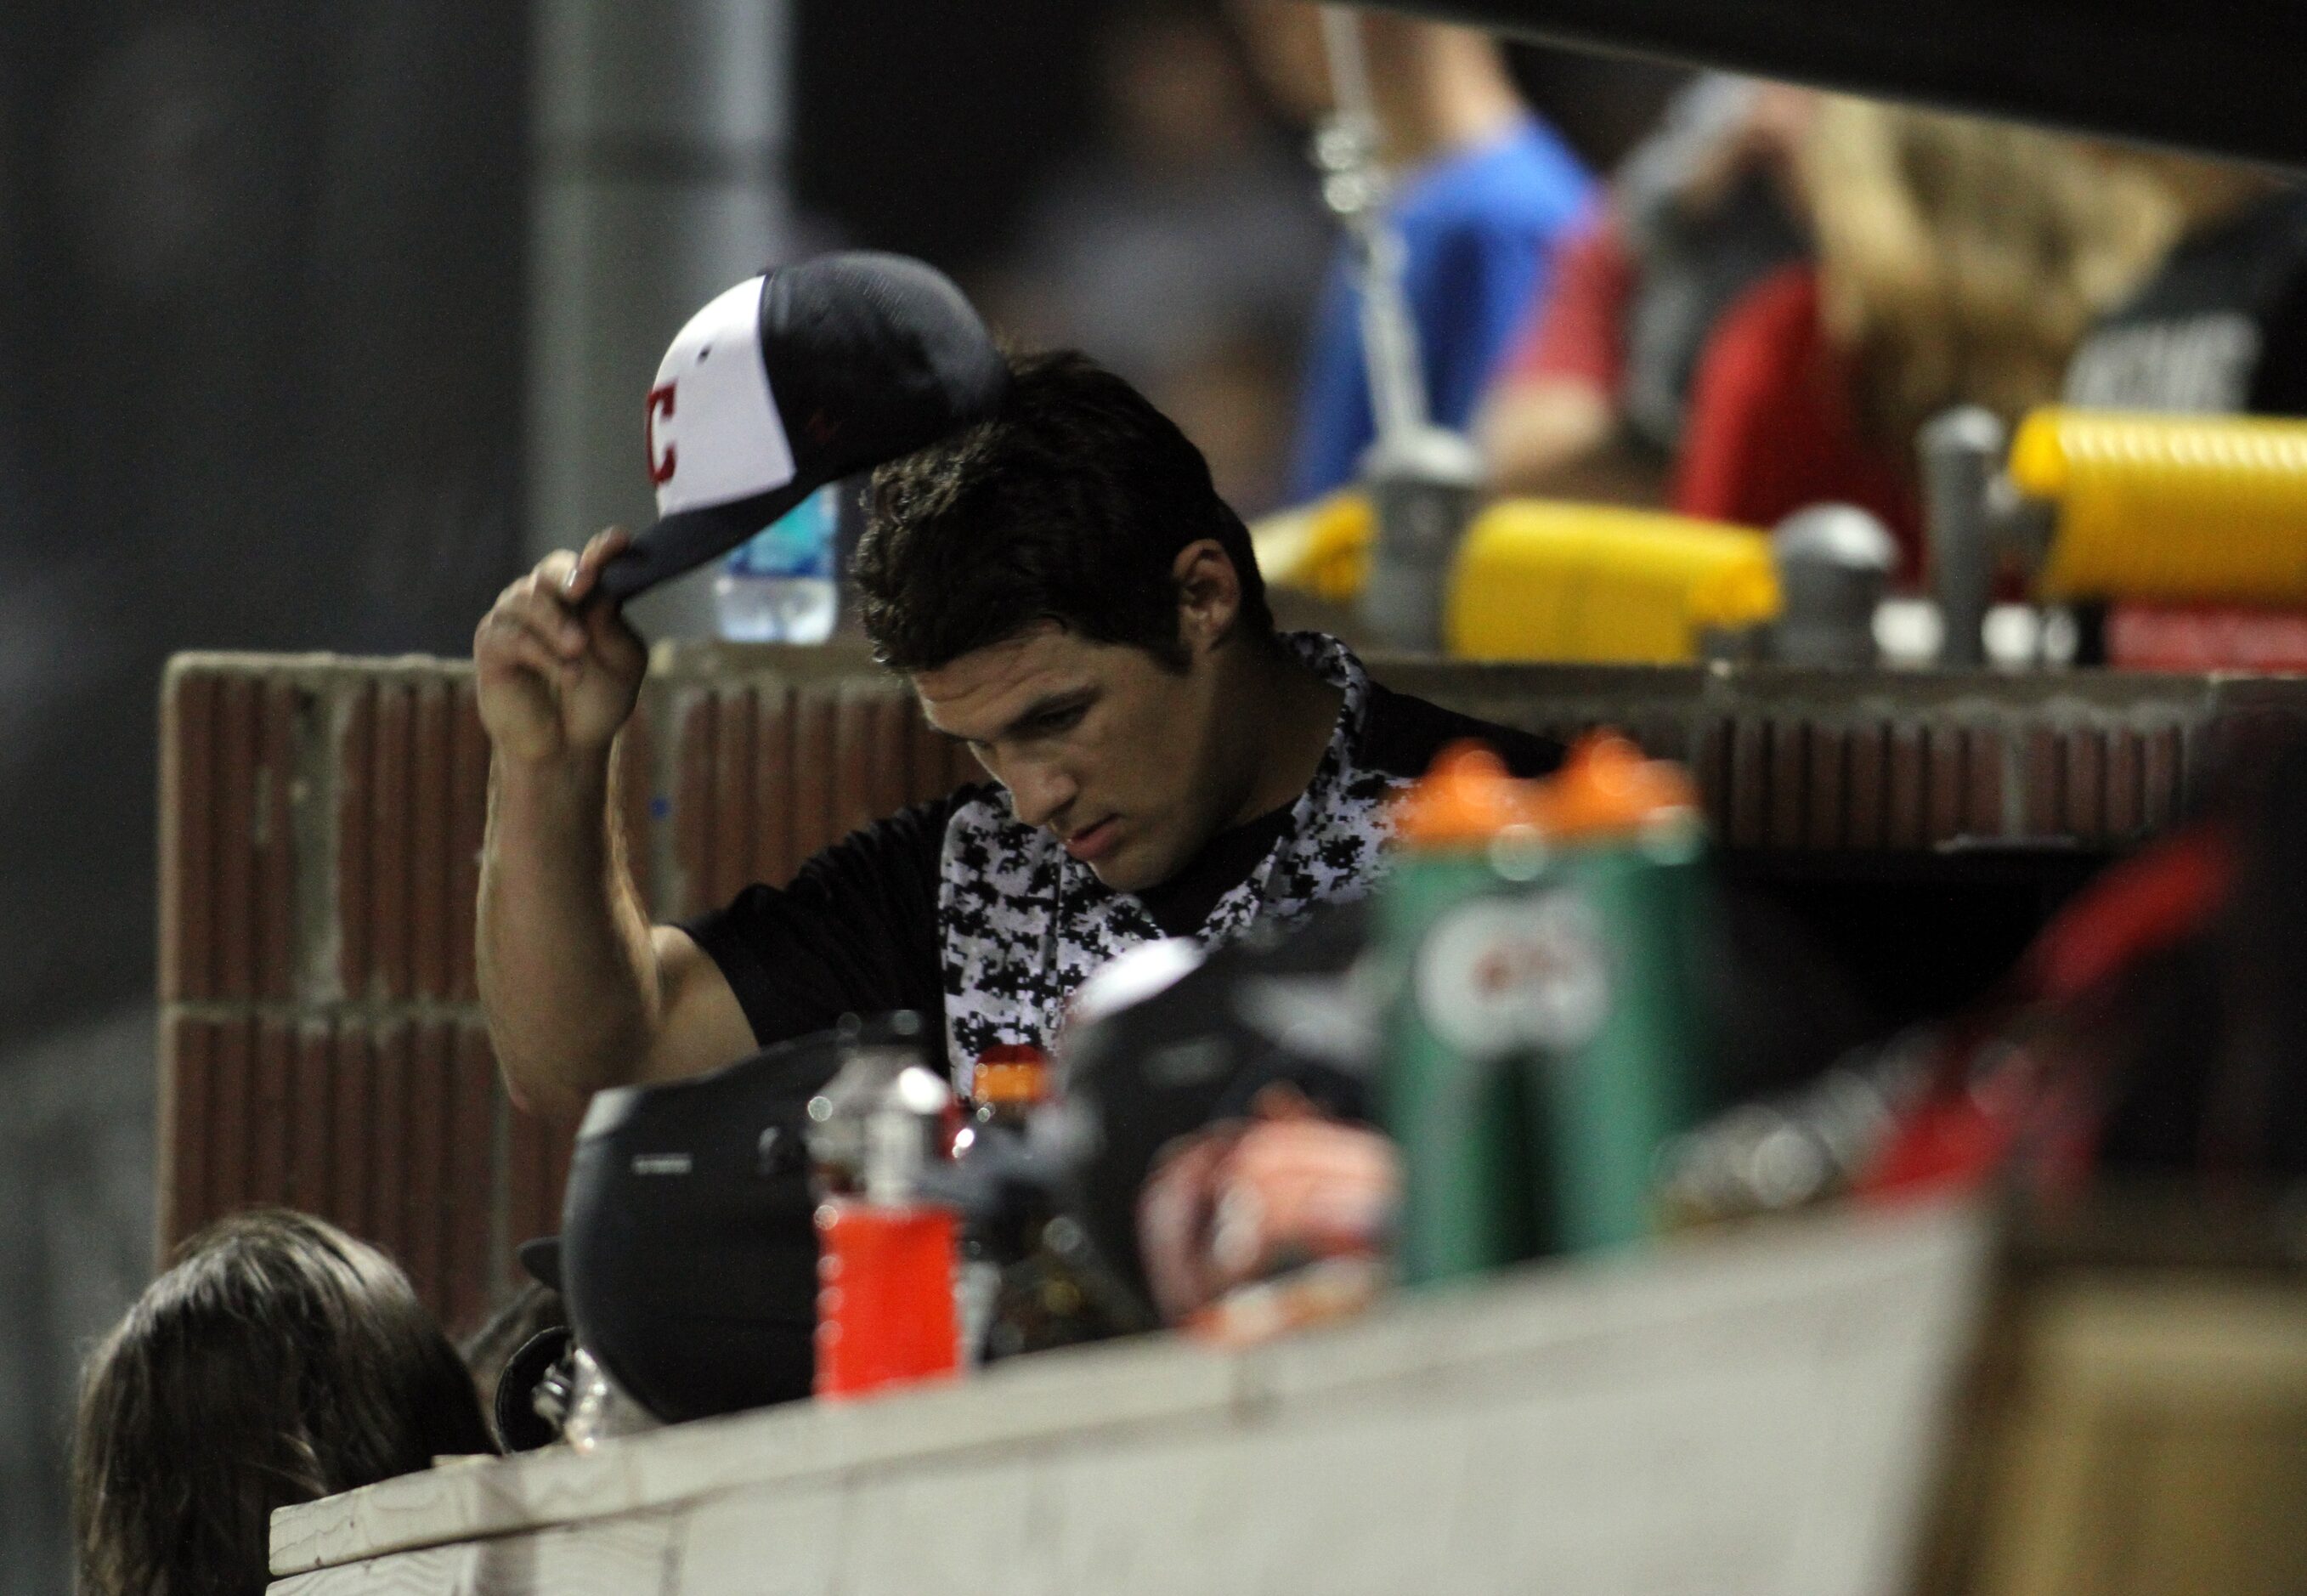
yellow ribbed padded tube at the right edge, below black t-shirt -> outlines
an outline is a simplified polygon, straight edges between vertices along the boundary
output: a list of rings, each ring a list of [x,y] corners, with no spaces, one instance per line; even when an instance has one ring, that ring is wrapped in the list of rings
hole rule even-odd
[[[2009,477],[2058,505],[2044,597],[2307,602],[2307,422],[2046,408]]]

